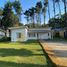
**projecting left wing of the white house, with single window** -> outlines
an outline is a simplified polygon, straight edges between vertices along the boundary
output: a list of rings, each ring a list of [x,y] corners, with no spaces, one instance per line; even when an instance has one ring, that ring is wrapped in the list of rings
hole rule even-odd
[[[27,28],[26,27],[11,27],[11,41],[27,41]]]

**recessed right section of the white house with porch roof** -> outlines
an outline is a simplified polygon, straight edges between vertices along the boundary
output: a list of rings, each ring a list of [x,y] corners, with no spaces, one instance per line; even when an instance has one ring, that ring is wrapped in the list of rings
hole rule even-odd
[[[51,28],[32,28],[28,30],[28,39],[51,39]]]

